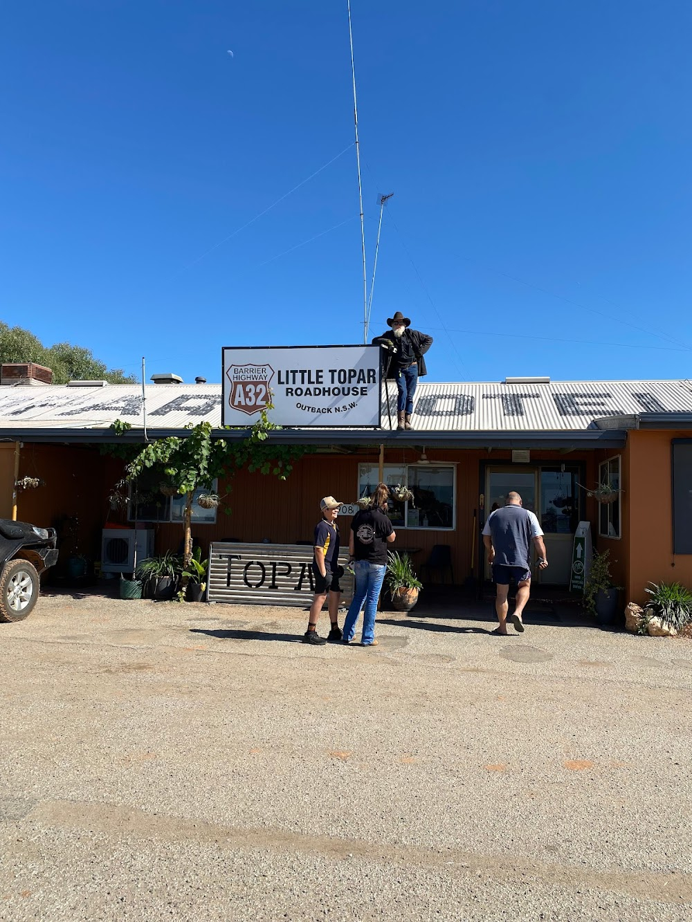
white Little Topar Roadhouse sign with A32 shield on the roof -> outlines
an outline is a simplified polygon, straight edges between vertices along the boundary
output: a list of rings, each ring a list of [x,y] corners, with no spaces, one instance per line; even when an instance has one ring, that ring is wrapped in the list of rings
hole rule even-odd
[[[221,425],[248,426],[271,395],[279,426],[320,429],[380,425],[376,346],[224,347]]]

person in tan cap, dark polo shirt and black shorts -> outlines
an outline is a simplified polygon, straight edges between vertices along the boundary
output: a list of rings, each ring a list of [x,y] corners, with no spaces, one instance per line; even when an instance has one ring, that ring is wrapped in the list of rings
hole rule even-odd
[[[315,526],[312,563],[315,576],[315,597],[310,606],[307,631],[303,635],[304,644],[316,646],[326,644],[328,640],[341,640],[342,636],[338,617],[341,597],[339,578],[343,575],[343,568],[339,566],[339,526],[337,525],[337,514],[341,503],[333,496],[325,496],[319,505],[322,509],[322,518]],[[329,597],[331,630],[329,636],[325,638],[320,637],[317,633],[317,619],[327,597]]]

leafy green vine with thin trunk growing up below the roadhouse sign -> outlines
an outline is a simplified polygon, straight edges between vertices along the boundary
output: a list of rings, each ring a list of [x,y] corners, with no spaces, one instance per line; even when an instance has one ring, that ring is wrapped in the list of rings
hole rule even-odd
[[[191,518],[195,491],[210,491],[215,479],[224,478],[228,488],[222,497],[225,499],[231,490],[230,479],[245,467],[250,472],[259,471],[260,474],[272,474],[285,480],[293,469],[293,461],[310,450],[302,445],[269,443],[269,432],[280,428],[267,418],[267,411],[271,408],[269,404],[262,410],[250,434],[240,442],[212,439],[211,423],[200,422],[196,426],[191,424],[187,427],[189,433],[183,437],[158,439],[146,444],[144,448],[136,445],[111,445],[105,449],[112,455],[124,457],[128,462],[121,485],[135,484],[142,471],[149,468],[160,474],[164,485],[170,485],[177,493],[185,496],[185,571],[189,571],[192,558]],[[127,422],[115,420],[112,428],[117,435],[122,435],[131,427]],[[231,512],[227,504],[224,511],[227,514]]]

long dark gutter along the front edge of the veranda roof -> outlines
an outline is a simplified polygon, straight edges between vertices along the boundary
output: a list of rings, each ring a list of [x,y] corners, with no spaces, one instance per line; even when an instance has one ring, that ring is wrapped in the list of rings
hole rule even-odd
[[[692,420],[692,417],[690,417]],[[240,442],[247,438],[249,429],[215,429],[212,438]],[[180,429],[149,429],[149,442],[155,439],[179,436]],[[424,444],[426,448],[621,448],[626,443],[626,431],[614,429],[579,429],[564,431],[387,431],[387,430],[318,430],[280,429],[272,431],[270,440],[278,444],[342,446],[379,445],[398,446]],[[63,444],[143,444],[142,430],[129,430],[116,436],[111,429],[25,429],[19,427],[0,429],[0,442],[63,443]]]

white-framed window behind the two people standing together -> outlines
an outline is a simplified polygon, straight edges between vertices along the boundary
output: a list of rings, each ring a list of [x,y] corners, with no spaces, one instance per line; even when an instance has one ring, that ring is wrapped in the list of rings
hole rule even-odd
[[[378,480],[377,465],[359,469],[358,495],[369,496]],[[454,467],[446,465],[385,465],[388,487],[406,484],[413,502],[389,500],[389,518],[395,528],[454,528]]]

